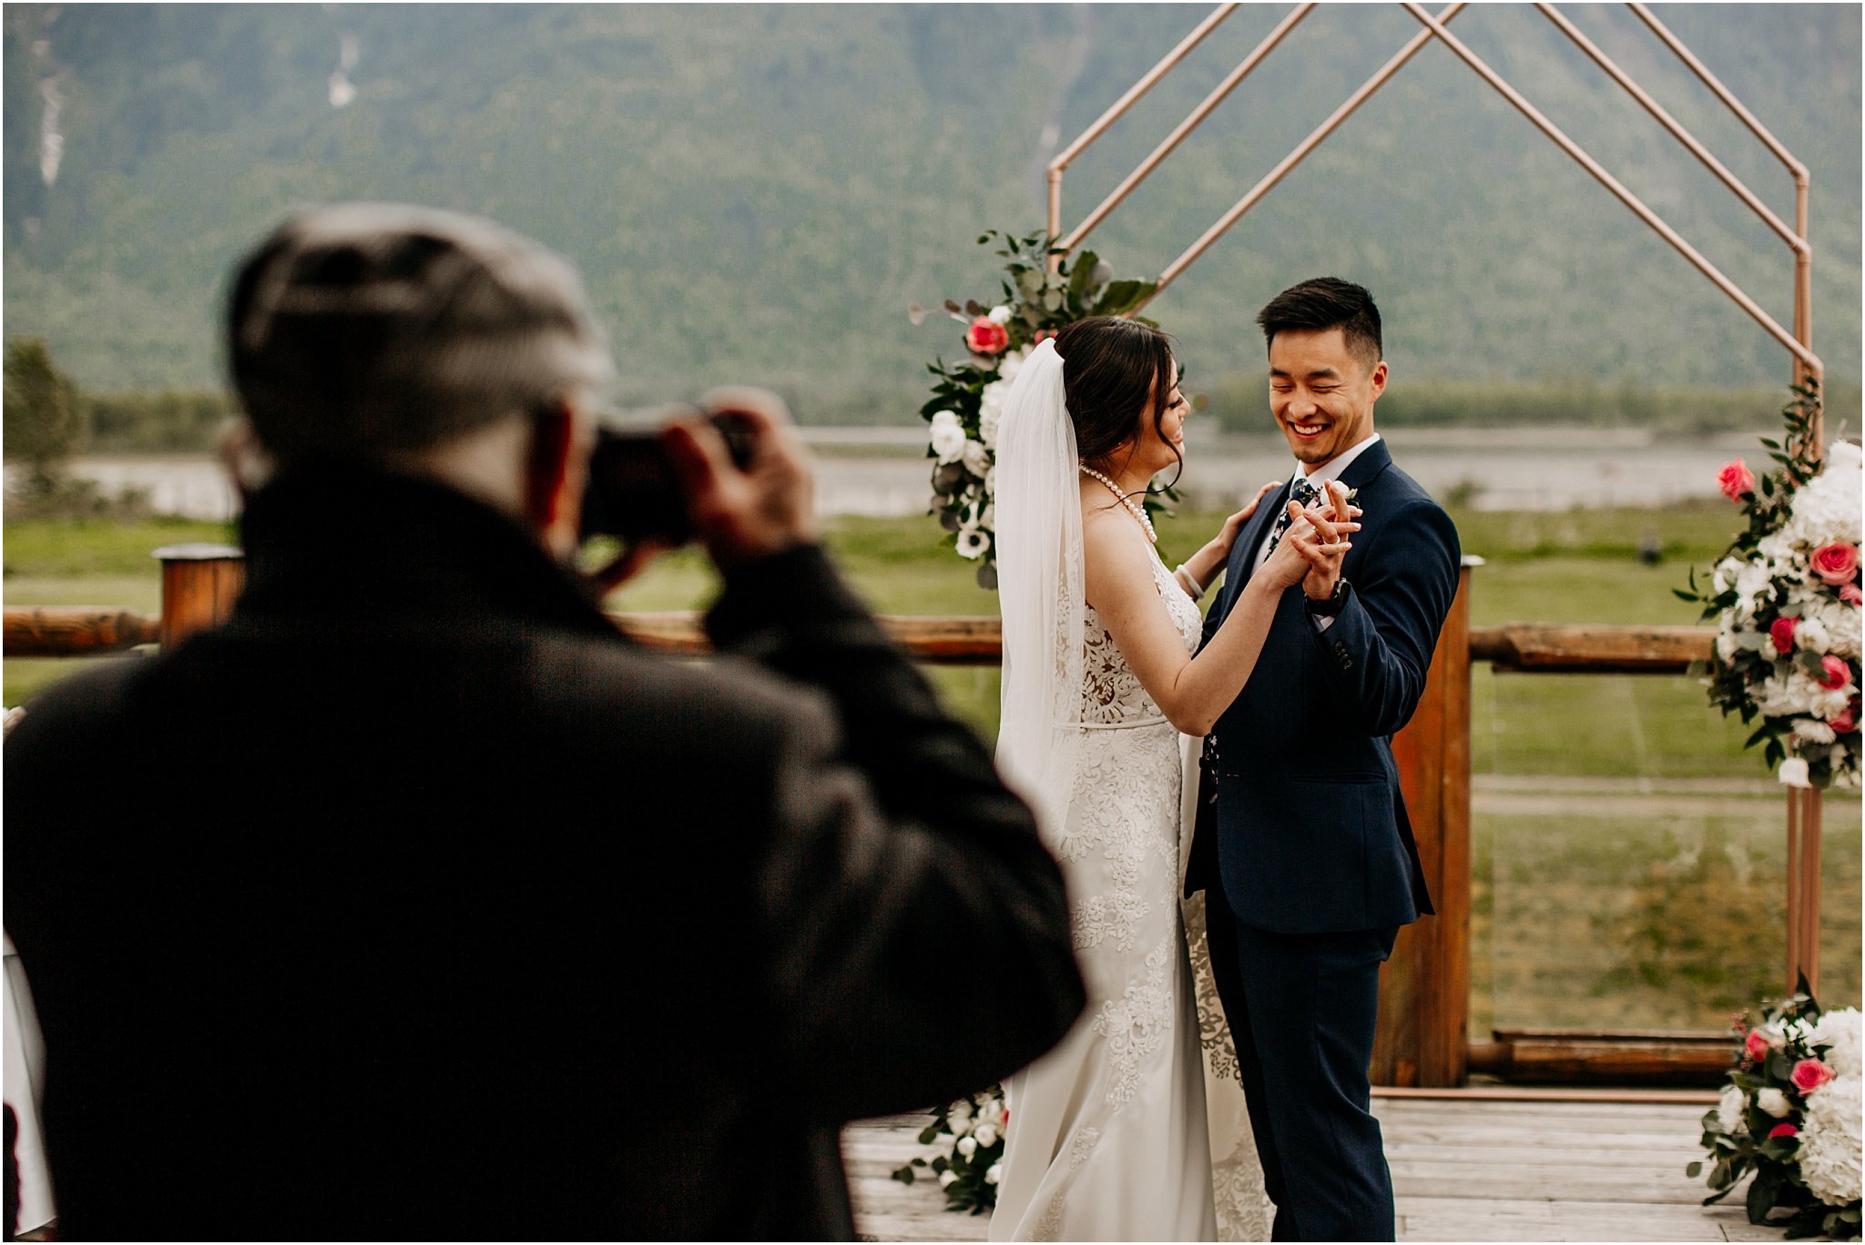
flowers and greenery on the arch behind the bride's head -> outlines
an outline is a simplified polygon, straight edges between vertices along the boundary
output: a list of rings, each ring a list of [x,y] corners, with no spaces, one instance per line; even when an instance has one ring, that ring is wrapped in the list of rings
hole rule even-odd
[[[1125,315],[1145,302],[1156,281],[1115,281],[1095,252],[1074,263],[1063,257],[1054,272],[1050,255],[1065,255],[1046,233],[1011,237],[987,229],[977,244],[998,239],[1005,259],[1003,296],[992,306],[946,300],[946,313],[964,324],[966,356],[927,363],[936,380],[932,399],[919,408],[931,425],[927,457],[932,466],[932,509],[951,533],[960,557],[979,563],[981,587],[998,585],[996,526],[992,514],[998,419],[1016,369],[1044,339],[1089,315]],[[919,306],[908,308],[914,324],[925,321]],[[1153,321],[1143,321],[1151,324]],[[1158,505],[1149,498],[1149,509]]]

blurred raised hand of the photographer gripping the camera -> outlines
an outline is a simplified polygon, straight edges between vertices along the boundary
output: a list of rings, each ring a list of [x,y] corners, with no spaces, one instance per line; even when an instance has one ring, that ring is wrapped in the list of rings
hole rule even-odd
[[[686,514],[720,570],[817,540],[809,451],[783,399],[731,386],[701,399],[709,414],[742,416],[752,460],[740,472],[705,419],[668,427],[668,453],[686,490]]]

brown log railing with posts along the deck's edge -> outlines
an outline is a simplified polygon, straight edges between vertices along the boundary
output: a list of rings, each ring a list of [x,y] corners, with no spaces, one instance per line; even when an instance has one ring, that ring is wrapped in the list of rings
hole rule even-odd
[[[162,557],[162,615],[108,606],[7,608],[6,656],[97,656],[175,643],[231,609],[239,550],[172,546]],[[1382,973],[1378,1085],[1451,1087],[1470,1072],[1511,1081],[1710,1083],[1729,1064],[1727,1038],[1708,1033],[1498,1031],[1470,1040],[1470,669],[1682,675],[1710,656],[1703,626],[1470,626],[1468,559],[1438,639],[1417,712],[1393,740],[1406,809],[1438,915],[1406,926]],[[692,611],[614,613],[615,626],[656,652],[709,652]],[[906,652],[934,665],[996,665],[992,617],[882,617]]]

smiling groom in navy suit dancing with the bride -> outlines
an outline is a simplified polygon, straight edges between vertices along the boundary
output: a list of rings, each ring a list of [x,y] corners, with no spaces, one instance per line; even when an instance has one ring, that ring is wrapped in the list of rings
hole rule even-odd
[[[1233,546],[1205,637],[1281,539],[1291,499],[1328,501],[1339,481],[1363,527],[1337,580],[1317,572],[1283,595],[1255,673],[1205,742],[1201,801],[1216,816],[1199,818],[1186,893],[1205,889],[1272,1239],[1389,1241],[1391,1174],[1367,1109],[1378,973],[1399,926],[1432,911],[1389,738],[1425,691],[1457,529],[1373,431],[1386,390],[1373,296],[1317,278],[1257,322],[1296,470]]]

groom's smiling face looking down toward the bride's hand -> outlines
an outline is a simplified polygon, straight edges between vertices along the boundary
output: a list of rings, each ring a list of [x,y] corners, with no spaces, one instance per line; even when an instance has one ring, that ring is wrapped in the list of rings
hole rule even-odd
[[[1386,362],[1358,356],[1339,328],[1285,328],[1270,341],[1270,414],[1307,466],[1373,436],[1384,391]]]

